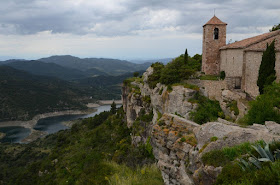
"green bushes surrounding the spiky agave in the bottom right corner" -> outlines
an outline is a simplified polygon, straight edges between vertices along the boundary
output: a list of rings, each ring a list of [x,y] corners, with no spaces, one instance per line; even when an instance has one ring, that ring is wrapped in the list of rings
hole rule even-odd
[[[256,142],[255,146],[266,144],[263,141]],[[213,150],[202,156],[205,165],[223,166],[222,173],[218,176],[215,184],[239,184],[239,185],[278,185],[280,180],[280,161],[264,162],[260,168],[243,168],[240,159],[248,160],[250,156],[261,158],[250,143],[243,143],[234,147],[225,147],[221,150]],[[270,153],[280,148],[280,142],[270,143]],[[269,151],[265,149],[266,152]],[[241,159],[242,160],[242,159]]]

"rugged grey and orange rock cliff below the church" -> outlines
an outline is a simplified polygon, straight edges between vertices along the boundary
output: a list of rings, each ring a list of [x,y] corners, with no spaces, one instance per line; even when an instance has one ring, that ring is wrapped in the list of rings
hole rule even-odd
[[[142,79],[123,86],[123,108],[133,144],[150,138],[165,184],[213,184],[222,167],[203,164],[204,153],[243,142],[280,139],[280,126],[273,122],[246,128],[223,119],[203,125],[192,122],[189,113],[197,105],[189,99],[196,91],[180,85],[168,89],[159,83],[151,89],[147,82],[152,73],[150,67]]]

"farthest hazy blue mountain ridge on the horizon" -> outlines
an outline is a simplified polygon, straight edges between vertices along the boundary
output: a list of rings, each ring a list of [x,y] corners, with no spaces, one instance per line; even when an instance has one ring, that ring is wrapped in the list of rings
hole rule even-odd
[[[85,58],[81,59],[70,55],[51,56],[39,59],[46,63],[55,63],[64,67],[74,68],[81,71],[98,69],[111,75],[120,75],[127,72],[146,70],[151,63],[135,64],[125,60],[108,58]]]

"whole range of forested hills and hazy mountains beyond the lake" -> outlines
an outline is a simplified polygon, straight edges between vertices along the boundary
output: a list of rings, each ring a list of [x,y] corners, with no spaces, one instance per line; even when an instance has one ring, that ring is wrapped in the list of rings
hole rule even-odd
[[[95,100],[120,99],[123,80],[134,71],[142,74],[145,65],[72,56],[0,62],[0,121],[29,120],[45,112],[82,109]]]

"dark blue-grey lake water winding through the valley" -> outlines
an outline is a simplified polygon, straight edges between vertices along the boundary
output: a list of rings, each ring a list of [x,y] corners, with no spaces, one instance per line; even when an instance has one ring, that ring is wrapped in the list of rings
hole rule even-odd
[[[117,105],[117,107],[120,106],[121,105]],[[63,115],[40,119],[34,126],[34,129],[45,131],[48,134],[52,134],[60,130],[65,130],[68,129],[68,127],[63,125],[62,122],[93,117],[103,111],[109,111],[111,109],[111,105],[102,105],[100,107],[97,107],[96,109],[96,112],[87,115]],[[23,127],[2,127],[0,128],[0,132],[6,134],[6,136],[1,139],[0,142],[12,143],[20,143],[22,139],[30,134],[30,130]]]

